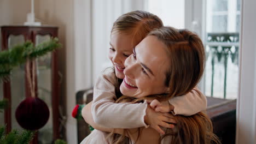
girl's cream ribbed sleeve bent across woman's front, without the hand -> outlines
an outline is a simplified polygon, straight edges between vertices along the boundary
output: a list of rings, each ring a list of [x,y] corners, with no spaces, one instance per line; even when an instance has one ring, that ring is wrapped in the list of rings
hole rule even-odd
[[[115,79],[113,71],[105,70],[95,83],[94,100],[91,107],[94,122],[108,128],[146,127],[144,116],[147,103],[114,103],[117,99],[114,87]]]

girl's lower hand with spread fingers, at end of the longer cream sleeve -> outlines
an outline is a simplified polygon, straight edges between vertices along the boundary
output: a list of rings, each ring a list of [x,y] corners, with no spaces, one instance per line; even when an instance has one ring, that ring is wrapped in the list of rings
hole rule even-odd
[[[174,128],[173,124],[176,123],[170,113],[156,112],[149,105],[146,110],[144,121],[162,135],[164,135],[165,132],[160,128],[160,126],[165,128]]]

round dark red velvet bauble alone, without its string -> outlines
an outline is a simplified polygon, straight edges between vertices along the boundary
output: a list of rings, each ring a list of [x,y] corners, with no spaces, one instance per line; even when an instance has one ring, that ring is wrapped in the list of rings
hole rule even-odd
[[[42,128],[49,119],[49,109],[43,100],[28,97],[17,107],[15,116],[20,126],[27,130]]]

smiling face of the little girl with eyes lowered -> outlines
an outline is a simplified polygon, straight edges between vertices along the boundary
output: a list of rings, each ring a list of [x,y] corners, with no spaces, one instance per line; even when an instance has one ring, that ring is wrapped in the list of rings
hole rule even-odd
[[[110,48],[108,58],[115,67],[115,75],[119,79],[124,79],[125,59],[132,53],[131,35],[113,32],[110,35]]]

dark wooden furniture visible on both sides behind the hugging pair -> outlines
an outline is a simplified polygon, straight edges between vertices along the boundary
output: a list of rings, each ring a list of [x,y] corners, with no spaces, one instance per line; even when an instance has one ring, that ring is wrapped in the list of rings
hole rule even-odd
[[[90,103],[93,97],[93,89],[85,89],[76,94],[77,104]],[[207,115],[213,123],[213,132],[222,143],[235,143],[236,135],[236,100],[207,98]],[[78,142],[80,143],[90,134],[88,124],[80,120],[77,123]]]

